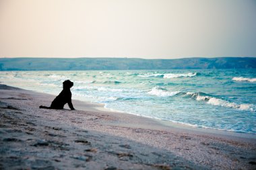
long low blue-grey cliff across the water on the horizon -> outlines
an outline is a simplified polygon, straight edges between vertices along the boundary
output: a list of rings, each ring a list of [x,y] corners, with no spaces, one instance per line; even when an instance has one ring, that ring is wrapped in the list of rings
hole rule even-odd
[[[0,58],[0,71],[75,71],[149,69],[256,69],[255,57],[141,58]]]

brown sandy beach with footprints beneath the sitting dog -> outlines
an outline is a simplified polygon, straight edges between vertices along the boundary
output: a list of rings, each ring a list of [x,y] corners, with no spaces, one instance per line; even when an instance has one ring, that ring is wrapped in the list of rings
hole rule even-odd
[[[256,169],[256,135],[153,120],[0,85],[0,169]],[[67,107],[67,106],[66,106]]]

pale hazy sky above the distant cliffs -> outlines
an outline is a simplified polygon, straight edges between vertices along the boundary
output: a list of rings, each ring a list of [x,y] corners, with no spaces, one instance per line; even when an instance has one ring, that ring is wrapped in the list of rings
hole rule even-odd
[[[0,57],[256,56],[256,0],[0,0]]]

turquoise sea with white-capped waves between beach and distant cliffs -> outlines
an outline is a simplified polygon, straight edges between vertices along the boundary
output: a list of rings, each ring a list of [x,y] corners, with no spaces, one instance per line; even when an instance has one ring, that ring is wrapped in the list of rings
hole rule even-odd
[[[110,110],[256,134],[256,69],[0,72],[3,84],[53,95],[67,79],[73,99]]]

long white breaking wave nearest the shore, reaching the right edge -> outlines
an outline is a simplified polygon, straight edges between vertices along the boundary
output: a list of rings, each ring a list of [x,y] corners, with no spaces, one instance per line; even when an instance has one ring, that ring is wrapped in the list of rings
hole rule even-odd
[[[186,95],[191,96],[197,101],[205,101],[210,105],[218,105],[225,108],[234,108],[238,110],[249,110],[251,112],[255,112],[255,106],[253,104],[238,104],[230,101],[226,101],[224,99],[211,97],[209,95],[202,95],[204,93],[195,93],[195,92],[187,92]]]

